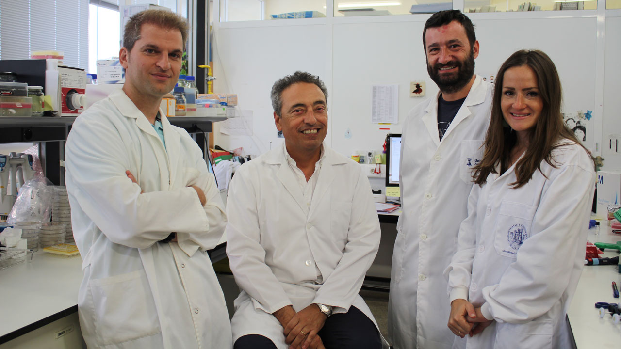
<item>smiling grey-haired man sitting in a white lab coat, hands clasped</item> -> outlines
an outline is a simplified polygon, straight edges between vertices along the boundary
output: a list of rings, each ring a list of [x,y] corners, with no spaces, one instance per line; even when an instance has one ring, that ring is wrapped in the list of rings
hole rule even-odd
[[[227,253],[242,292],[234,348],[374,348],[358,295],[379,245],[361,166],[322,144],[327,90],[297,71],[271,91],[278,147],[239,168],[229,188]]]

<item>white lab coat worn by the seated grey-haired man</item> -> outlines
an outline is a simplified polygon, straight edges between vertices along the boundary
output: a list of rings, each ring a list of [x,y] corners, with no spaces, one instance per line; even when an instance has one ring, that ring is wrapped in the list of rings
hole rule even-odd
[[[355,306],[375,323],[358,295],[380,238],[371,186],[360,165],[325,145],[324,152],[310,203],[283,147],[243,164],[233,176],[227,254],[242,289],[231,320],[233,342],[257,333],[288,348],[271,315],[288,305],[299,311],[329,304],[335,312]]]

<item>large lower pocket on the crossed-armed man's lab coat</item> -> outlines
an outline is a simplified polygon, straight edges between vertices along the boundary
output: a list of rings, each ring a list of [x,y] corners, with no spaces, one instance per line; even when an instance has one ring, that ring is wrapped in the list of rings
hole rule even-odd
[[[99,344],[122,343],[161,332],[144,270],[92,279],[89,288]]]

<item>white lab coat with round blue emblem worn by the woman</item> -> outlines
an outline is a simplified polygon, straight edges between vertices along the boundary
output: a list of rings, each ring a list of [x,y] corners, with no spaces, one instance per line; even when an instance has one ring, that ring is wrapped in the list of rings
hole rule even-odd
[[[514,165],[468,197],[445,271],[449,302],[468,299],[496,321],[466,337],[467,348],[571,348],[565,314],[584,265],[595,172],[575,143],[553,154],[559,167],[542,161],[522,188],[510,188]]]

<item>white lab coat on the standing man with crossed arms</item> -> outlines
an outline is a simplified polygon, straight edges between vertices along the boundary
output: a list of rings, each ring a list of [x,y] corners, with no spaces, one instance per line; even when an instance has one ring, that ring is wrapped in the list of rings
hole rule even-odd
[[[161,123],[166,149],[118,90],[79,116],[67,140],[66,186],[83,257],[78,314],[89,348],[232,347],[205,252],[224,231],[222,199],[192,138],[166,117]],[[205,207],[189,184],[203,189]],[[170,232],[178,243],[158,243]]]

